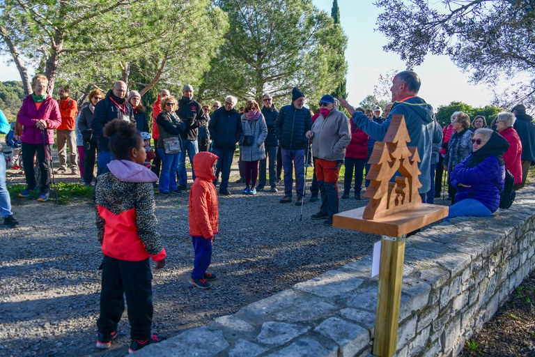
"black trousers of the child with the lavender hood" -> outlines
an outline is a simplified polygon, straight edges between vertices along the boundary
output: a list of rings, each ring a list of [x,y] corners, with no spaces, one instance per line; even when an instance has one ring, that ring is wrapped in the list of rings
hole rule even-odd
[[[125,261],[104,256],[98,331],[105,335],[116,331],[125,310],[125,294],[130,337],[136,340],[150,338],[153,324],[152,280],[148,259]]]

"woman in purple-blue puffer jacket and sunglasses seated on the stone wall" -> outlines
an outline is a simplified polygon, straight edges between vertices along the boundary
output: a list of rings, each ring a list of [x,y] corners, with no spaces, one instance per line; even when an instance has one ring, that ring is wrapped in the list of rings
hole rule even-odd
[[[509,149],[509,143],[493,130],[478,129],[472,146],[472,154],[451,172],[451,184],[457,190],[456,204],[449,208],[445,220],[460,215],[492,215],[498,209],[505,180],[502,155]]]

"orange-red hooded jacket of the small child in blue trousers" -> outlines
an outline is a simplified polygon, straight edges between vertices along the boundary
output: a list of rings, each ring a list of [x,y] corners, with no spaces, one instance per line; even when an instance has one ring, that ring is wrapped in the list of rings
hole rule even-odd
[[[189,235],[210,239],[219,233],[219,207],[217,192],[212,183],[212,165],[217,155],[208,151],[196,153],[193,157],[195,181],[189,190]]]

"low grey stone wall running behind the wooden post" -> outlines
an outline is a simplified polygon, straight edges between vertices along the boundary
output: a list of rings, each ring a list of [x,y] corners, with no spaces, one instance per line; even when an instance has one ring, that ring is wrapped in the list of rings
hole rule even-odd
[[[407,239],[398,357],[456,356],[535,262],[535,189],[490,218]],[[369,356],[378,280],[371,256],[295,284],[137,356]]]

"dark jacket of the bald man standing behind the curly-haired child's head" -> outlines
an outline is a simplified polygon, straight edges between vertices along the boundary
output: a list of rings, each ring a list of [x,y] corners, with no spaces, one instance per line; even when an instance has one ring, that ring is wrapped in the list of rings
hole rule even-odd
[[[111,99],[115,100],[121,107],[118,107]],[[104,126],[114,119],[123,119],[123,116],[135,123],[132,105],[125,98],[114,96],[114,91],[110,89],[106,93],[106,98],[97,103],[91,121],[91,129],[93,129],[93,135],[97,137],[99,150],[110,151],[109,139],[103,134]]]

